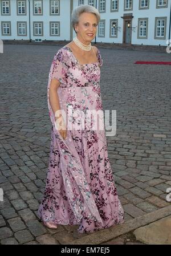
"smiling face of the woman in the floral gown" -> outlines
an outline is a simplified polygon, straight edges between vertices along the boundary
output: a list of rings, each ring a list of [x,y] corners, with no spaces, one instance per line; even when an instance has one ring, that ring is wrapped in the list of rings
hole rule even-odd
[[[79,22],[75,25],[77,37],[83,43],[91,42],[97,32],[97,17],[92,13],[82,13],[79,16]]]

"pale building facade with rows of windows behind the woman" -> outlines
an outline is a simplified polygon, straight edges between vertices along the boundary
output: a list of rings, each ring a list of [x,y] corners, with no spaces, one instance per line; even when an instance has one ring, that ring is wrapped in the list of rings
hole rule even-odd
[[[0,0],[2,40],[72,40],[78,5],[99,10],[95,42],[166,46],[171,0]]]

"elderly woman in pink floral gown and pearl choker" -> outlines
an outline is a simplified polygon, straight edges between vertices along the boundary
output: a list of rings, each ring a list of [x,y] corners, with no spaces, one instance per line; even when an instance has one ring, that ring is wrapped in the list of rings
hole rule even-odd
[[[47,87],[50,162],[38,210],[43,224],[51,229],[57,224],[79,225],[78,232],[86,233],[124,222],[104,127],[92,129],[93,115],[86,117],[91,127],[83,127],[87,111],[103,111],[99,84],[103,59],[91,46],[99,20],[95,7],[77,7],[72,12],[76,37],[58,50],[51,64]]]

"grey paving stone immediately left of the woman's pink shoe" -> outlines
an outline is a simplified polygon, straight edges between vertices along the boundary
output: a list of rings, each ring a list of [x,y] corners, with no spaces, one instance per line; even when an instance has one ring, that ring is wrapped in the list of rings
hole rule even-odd
[[[26,225],[35,237],[47,233],[46,228],[39,221],[27,221]]]

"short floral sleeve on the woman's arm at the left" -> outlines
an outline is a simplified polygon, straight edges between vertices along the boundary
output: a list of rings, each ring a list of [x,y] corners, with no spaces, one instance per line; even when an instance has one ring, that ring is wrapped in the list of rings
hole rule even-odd
[[[68,68],[67,53],[61,48],[52,61],[51,79],[58,79],[60,83],[67,84]]]

